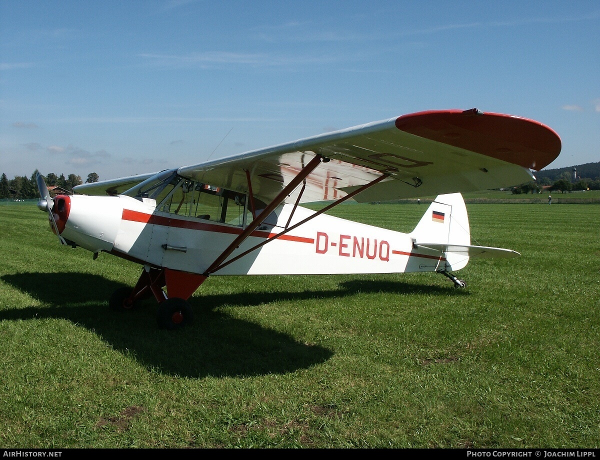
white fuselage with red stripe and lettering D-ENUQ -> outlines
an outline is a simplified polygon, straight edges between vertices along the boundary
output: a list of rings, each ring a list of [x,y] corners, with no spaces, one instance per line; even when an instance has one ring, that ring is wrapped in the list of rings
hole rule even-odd
[[[239,223],[160,211],[148,198],[74,195],[63,199],[68,201],[69,212],[59,215],[58,223],[61,236],[71,245],[149,266],[205,273],[243,230]],[[326,214],[284,232],[311,215],[313,211],[300,206],[280,206],[227,260],[271,239],[268,243],[211,274],[424,272],[445,263],[439,252],[415,249],[410,234]]]

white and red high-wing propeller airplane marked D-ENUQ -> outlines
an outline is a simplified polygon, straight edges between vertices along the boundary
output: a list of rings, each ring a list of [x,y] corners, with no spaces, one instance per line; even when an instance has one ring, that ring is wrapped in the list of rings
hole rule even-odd
[[[461,193],[511,187],[550,164],[560,137],[540,122],[469,110],[427,110],[219,160],[74,187],[38,208],[62,245],[142,266],[115,310],[158,302],[157,325],[193,321],[189,297],[212,275],[455,271],[471,257],[517,257],[471,245]],[[325,214],[359,203],[436,196],[410,233]],[[325,202],[319,211],[306,203]]]

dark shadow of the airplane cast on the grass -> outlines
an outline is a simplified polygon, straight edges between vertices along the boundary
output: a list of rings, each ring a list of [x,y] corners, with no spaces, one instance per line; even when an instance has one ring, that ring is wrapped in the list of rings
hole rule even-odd
[[[39,299],[45,306],[0,311],[0,320],[59,318],[97,333],[116,350],[133,353],[147,368],[181,377],[285,374],[331,358],[334,351],[303,344],[260,324],[233,318],[219,306],[254,306],[281,300],[340,298],[356,293],[444,294],[464,290],[395,281],[352,280],[332,290],[242,292],[190,297],[195,320],[179,331],[158,330],[154,302],[133,311],[111,311],[110,294],[124,285],[90,273],[17,273],[2,281]],[[67,281],[68,280],[68,281]],[[148,309],[153,311],[149,312]]]

